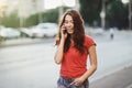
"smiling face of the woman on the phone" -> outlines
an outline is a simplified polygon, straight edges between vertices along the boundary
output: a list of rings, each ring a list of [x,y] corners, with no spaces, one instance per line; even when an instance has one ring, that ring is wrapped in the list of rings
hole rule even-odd
[[[74,33],[74,20],[69,14],[65,16],[64,25],[69,34]]]

